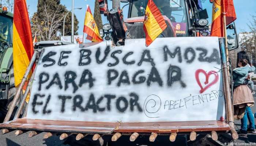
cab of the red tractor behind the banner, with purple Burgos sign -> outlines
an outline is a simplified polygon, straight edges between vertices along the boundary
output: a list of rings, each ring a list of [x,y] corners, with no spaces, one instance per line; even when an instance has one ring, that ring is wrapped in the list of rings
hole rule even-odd
[[[161,12],[167,28],[158,36],[165,37],[209,37],[211,31],[212,3],[210,0],[153,0]],[[109,28],[100,30],[102,37],[106,35],[118,45],[124,44],[124,39],[146,38],[143,21],[148,0],[113,0],[112,9],[104,12]],[[126,4],[125,4],[126,3]],[[123,7],[121,7],[123,6]],[[128,12],[123,11],[129,7]],[[118,9],[119,8],[119,9]],[[106,24],[105,24],[106,25]],[[234,22],[227,26],[229,50],[237,49],[238,38]],[[118,42],[118,43],[117,43]]]

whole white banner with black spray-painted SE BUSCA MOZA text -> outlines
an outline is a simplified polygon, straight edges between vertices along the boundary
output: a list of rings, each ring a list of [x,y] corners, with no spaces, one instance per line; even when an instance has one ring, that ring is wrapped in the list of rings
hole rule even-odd
[[[207,43],[206,43],[207,42]],[[125,46],[45,48],[28,119],[93,122],[219,120],[225,116],[217,37],[144,39]]]

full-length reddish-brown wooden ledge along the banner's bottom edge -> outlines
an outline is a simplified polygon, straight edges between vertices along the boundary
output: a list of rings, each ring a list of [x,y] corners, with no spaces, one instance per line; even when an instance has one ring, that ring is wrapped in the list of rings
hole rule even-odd
[[[16,119],[0,124],[0,129],[20,129],[33,131],[72,132],[91,134],[111,134],[112,132],[207,132],[229,131],[230,126],[222,121],[191,122],[140,122],[140,123],[107,123]]]

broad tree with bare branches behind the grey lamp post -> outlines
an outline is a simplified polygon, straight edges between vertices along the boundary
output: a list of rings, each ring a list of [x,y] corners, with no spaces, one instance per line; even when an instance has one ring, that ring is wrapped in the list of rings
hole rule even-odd
[[[37,32],[39,41],[59,40],[63,35],[63,20],[68,10],[60,4],[60,0],[38,0],[37,12],[31,22],[33,37]],[[65,19],[65,35],[71,35],[71,13]],[[78,30],[78,20],[74,16],[74,31]]]

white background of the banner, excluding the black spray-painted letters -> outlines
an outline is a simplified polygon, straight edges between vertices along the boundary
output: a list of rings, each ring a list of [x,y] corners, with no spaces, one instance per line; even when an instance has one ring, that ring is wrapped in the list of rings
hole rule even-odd
[[[78,45],[65,45],[46,48],[44,53],[41,55],[36,70],[27,118],[100,122],[167,122],[219,120],[225,115],[222,73],[219,71],[219,69],[221,69],[221,61],[218,60],[211,63],[207,61],[199,61],[200,55],[202,55],[204,59],[206,57],[210,57],[214,49],[218,50],[217,58],[220,58],[217,37],[159,38],[156,39],[149,47],[145,46],[144,39],[127,40],[125,42],[125,46],[110,47],[110,53],[106,57],[106,60],[102,64],[98,64],[95,59],[97,48],[101,49],[99,58],[102,59],[103,53],[108,45],[111,46],[111,42],[101,42],[94,46],[82,48],[91,51],[91,63],[84,66],[78,66],[80,58],[79,51],[81,50]],[[167,61],[165,61],[163,51],[165,45],[171,52],[174,52],[176,47],[180,47],[182,62],[178,61],[177,54],[174,58],[167,55]],[[187,63],[187,59],[184,57],[185,50],[188,47],[191,47],[195,51],[195,59],[193,59],[193,62],[191,63]],[[206,49],[208,53],[206,55],[202,54],[202,51],[199,51],[197,48]],[[109,63],[115,62],[115,59],[113,59],[110,55],[116,50],[122,51],[120,54],[115,54],[115,56],[119,59],[119,63],[116,66],[109,67]],[[145,61],[142,62],[140,66],[138,65],[144,50],[150,51],[151,58],[154,59],[154,67],[158,70],[159,76],[161,77],[162,86],[159,85],[158,82],[151,82],[149,86],[147,85],[147,80],[150,76],[152,65],[150,62]],[[56,55],[50,57],[54,59],[56,63],[52,66],[44,67],[43,65],[51,63],[42,62],[42,58],[45,57],[45,55],[50,51],[56,52]],[[61,63],[67,62],[66,66],[58,65],[61,51],[71,51],[70,54],[64,54],[68,55],[68,58],[61,61]],[[127,57],[127,61],[134,60],[135,64],[125,65],[122,59],[125,54],[130,51],[132,51],[133,54]],[[191,59],[191,56],[192,53],[188,53],[188,59]],[[85,59],[83,61],[85,62],[87,60]],[[180,68],[181,81],[186,85],[185,88],[182,88],[180,81],[173,82],[171,86],[167,85],[167,70],[170,65]],[[92,73],[92,77],[95,79],[93,82],[93,87],[89,88],[89,83],[86,83],[83,84],[82,87],[78,87],[78,90],[73,93],[72,85],[68,84],[68,88],[65,90],[64,74],[67,71],[75,72],[77,75],[75,78],[75,83],[78,85],[85,69],[89,69]],[[109,69],[115,69],[118,71],[118,77],[113,80],[110,85],[108,84],[107,77],[107,72]],[[215,76],[217,78],[217,82],[212,84],[203,93],[199,92],[200,87],[195,77],[195,72],[198,69],[205,70],[206,73],[210,71],[217,72],[209,75],[208,84],[204,84],[204,82],[206,82],[206,76],[203,73],[199,73],[199,82],[202,84],[203,88],[211,84],[211,82],[215,80]],[[117,84],[120,74],[124,70],[126,70],[128,73],[130,84],[128,85],[121,83],[120,87],[118,87]],[[138,77],[136,77],[136,80],[139,80],[140,76],[146,77],[146,81],[142,84],[134,84],[132,82],[132,77],[138,70],[144,70],[144,73],[141,73]],[[41,91],[39,91],[39,74],[42,72],[49,74],[49,80],[41,85]],[[53,84],[49,89],[46,89],[46,87],[52,81],[55,73],[59,74],[62,89],[59,89],[57,84]],[[176,73],[172,74],[172,76],[176,75]],[[88,76],[86,78],[88,78]],[[45,80],[45,77],[43,77],[42,80]],[[216,91],[220,94],[219,96]],[[137,105],[134,106],[133,111],[131,110],[130,101],[134,99],[133,96],[130,96],[131,93],[138,95],[139,100],[137,103],[139,104],[141,110],[139,110]],[[35,100],[34,96],[36,94],[45,96],[37,97],[37,100]],[[90,107],[88,108],[87,106],[86,108],[86,104],[88,103],[91,94],[95,98],[95,105],[98,105],[98,107],[102,108],[102,110],[105,108],[104,111],[99,111],[97,108],[96,111],[93,112],[93,109]],[[49,95],[49,103],[46,104]],[[66,99],[65,108],[62,112],[61,107],[63,103],[62,100],[59,99],[59,95],[71,96],[71,99]],[[83,98],[81,104],[83,110],[76,107],[76,110],[74,111],[74,97],[77,95],[81,95]],[[110,101],[109,109],[107,108],[108,100],[105,95],[115,96],[115,98]],[[198,96],[201,99],[199,99]],[[99,100],[100,97],[102,97],[101,101]],[[125,99],[128,101],[127,108],[124,108],[125,104],[123,101],[118,104],[121,108],[124,108],[123,112],[117,110],[116,104],[118,98],[124,99],[120,97],[125,97]],[[168,103],[169,105],[167,105]],[[93,105],[93,101],[91,101],[90,104]],[[35,111],[37,111],[37,113],[35,113]]]

